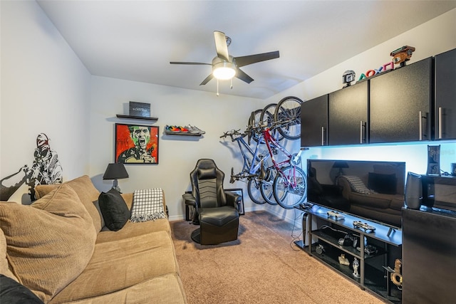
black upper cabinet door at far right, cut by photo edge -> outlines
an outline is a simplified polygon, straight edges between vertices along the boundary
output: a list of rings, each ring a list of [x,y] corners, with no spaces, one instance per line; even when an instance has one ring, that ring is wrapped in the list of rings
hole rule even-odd
[[[456,48],[435,56],[435,139],[456,138]]]

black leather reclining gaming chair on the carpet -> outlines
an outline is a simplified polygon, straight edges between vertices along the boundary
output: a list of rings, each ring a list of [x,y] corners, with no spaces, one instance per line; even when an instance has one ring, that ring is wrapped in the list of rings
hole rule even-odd
[[[193,223],[199,229],[192,232],[192,240],[202,245],[237,240],[239,229],[238,194],[225,192],[225,174],[212,159],[199,159],[190,172],[192,193],[182,195],[185,204],[195,207]]]

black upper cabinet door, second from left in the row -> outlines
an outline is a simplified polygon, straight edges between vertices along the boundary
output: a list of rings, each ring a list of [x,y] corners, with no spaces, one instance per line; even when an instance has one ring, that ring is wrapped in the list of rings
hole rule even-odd
[[[365,80],[329,94],[329,145],[367,142],[368,84]]]

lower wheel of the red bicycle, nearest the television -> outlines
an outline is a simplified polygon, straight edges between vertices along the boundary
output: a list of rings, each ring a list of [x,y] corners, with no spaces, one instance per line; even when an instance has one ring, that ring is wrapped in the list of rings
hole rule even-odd
[[[277,174],[274,179],[274,198],[281,207],[293,209],[306,199],[306,174],[296,166],[289,166],[281,171],[283,174]]]

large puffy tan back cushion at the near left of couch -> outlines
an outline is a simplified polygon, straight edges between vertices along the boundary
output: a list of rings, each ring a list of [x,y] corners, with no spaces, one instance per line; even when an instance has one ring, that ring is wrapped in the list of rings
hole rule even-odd
[[[95,247],[93,221],[67,184],[31,206],[0,204],[11,271],[44,302],[86,268]]]

